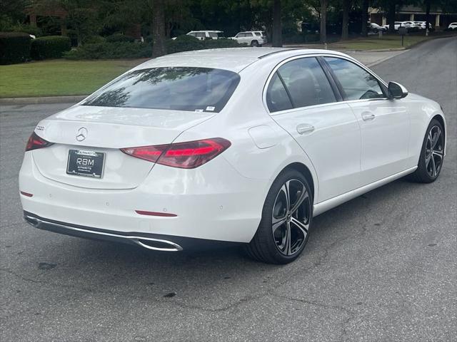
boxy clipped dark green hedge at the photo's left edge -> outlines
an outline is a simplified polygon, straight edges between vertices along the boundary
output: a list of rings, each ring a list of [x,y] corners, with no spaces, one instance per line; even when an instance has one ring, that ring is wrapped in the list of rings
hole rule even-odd
[[[0,64],[22,63],[30,58],[28,33],[0,32]]]

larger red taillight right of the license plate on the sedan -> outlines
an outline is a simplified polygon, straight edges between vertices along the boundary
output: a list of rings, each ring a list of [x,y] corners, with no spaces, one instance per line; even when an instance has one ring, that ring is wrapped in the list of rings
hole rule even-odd
[[[121,148],[127,155],[157,162],[161,165],[193,169],[229,148],[231,142],[222,138],[211,138],[170,145]]]

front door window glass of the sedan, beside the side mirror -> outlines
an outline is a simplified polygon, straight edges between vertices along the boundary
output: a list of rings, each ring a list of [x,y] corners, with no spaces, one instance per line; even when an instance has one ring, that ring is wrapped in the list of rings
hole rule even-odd
[[[378,80],[360,66],[342,58],[325,57],[341,87],[346,100],[385,98]]]

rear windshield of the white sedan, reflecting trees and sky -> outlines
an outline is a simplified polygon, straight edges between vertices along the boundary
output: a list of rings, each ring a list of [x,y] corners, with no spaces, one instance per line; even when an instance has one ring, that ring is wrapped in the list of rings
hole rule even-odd
[[[232,71],[166,67],[132,71],[83,105],[219,112],[240,81]]]

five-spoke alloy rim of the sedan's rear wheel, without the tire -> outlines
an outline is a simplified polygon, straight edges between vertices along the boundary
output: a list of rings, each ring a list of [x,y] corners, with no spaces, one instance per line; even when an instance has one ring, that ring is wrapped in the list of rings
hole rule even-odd
[[[301,250],[308,236],[311,201],[303,182],[288,180],[276,195],[271,227],[276,248],[291,256]]]

